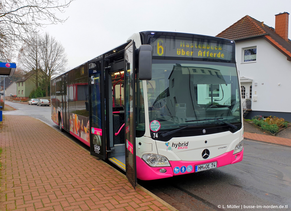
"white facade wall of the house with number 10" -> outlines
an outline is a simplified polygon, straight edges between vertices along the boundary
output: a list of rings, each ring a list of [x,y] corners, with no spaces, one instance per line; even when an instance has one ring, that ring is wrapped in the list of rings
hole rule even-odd
[[[249,47],[257,48],[256,61],[243,63],[243,50]],[[283,53],[265,39],[255,39],[236,43],[236,59],[247,97],[252,86],[253,111],[291,112],[291,61]]]

